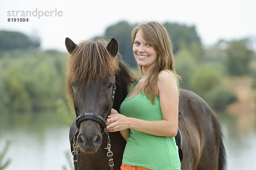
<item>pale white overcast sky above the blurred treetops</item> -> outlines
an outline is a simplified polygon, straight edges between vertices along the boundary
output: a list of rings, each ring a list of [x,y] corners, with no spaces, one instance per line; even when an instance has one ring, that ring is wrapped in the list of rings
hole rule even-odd
[[[130,24],[157,21],[195,25],[204,45],[220,39],[256,37],[256,0],[3,0],[0,30],[20,31],[41,38],[43,49],[65,51],[64,40],[74,42],[103,35],[105,28],[125,20]],[[8,22],[16,11],[39,11],[29,22]],[[14,16],[8,16],[14,11]],[[47,13],[49,11],[49,13]],[[62,16],[55,16],[55,11]],[[20,18],[22,12],[18,12]],[[29,14],[29,13],[28,13]]]

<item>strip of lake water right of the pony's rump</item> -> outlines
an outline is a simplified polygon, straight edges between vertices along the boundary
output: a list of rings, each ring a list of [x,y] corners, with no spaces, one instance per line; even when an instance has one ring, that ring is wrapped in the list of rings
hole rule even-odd
[[[227,170],[256,170],[255,115],[219,116],[227,150]]]

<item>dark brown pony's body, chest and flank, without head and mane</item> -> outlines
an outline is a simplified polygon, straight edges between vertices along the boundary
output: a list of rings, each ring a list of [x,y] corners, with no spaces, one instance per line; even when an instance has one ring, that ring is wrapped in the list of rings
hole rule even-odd
[[[224,164],[223,159],[219,160],[219,143],[222,141],[220,141],[221,132],[219,130],[218,120],[207,103],[191,91],[180,89],[179,103],[183,108],[183,116],[186,121],[185,125],[183,118],[179,118],[180,131],[183,137],[183,160],[181,162],[181,169],[218,170],[218,164]],[[75,121],[76,117],[70,128],[70,139],[72,139],[76,130]],[[119,132],[110,133],[110,136],[115,169],[119,170],[126,142]],[[80,166],[82,170],[109,169],[106,149],[104,149],[106,146],[105,141],[106,139],[103,139],[102,145],[96,153],[81,154]],[[221,147],[223,147],[223,145]],[[99,160],[105,163],[99,164]],[[219,170],[221,170],[221,168]]]

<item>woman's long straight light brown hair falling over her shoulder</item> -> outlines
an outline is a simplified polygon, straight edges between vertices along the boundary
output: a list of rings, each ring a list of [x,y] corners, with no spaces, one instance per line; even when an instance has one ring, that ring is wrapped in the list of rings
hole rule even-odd
[[[158,60],[154,64],[154,67],[149,72],[145,84],[141,89],[141,92],[144,91],[144,94],[149,99],[151,99],[151,103],[154,105],[155,96],[157,93],[157,79],[160,71],[165,69],[171,71],[177,78],[178,88],[178,79],[180,79],[180,76],[175,72],[172,41],[169,37],[166,28],[162,24],[154,21],[139,24],[132,30],[131,33],[133,44],[136,34],[140,30],[142,31],[143,39],[154,47],[158,55]],[[143,74],[142,66],[138,67],[140,68],[140,71]]]

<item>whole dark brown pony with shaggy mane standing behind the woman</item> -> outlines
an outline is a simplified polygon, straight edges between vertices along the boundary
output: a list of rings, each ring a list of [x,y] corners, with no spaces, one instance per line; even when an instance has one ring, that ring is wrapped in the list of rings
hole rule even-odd
[[[118,43],[103,40],[83,41],[76,45],[66,39],[71,54],[67,63],[67,93],[76,111],[98,113],[105,116],[111,97],[110,87],[116,77],[116,96],[113,108],[119,106],[127,95],[127,84],[135,78],[121,59],[116,57]],[[73,93],[72,93],[72,87]],[[73,98],[74,97],[74,98]],[[182,170],[225,170],[226,155],[221,127],[207,103],[192,91],[180,89],[180,106],[184,114],[179,118],[183,136]],[[101,126],[93,120],[81,122],[77,144],[81,149],[80,170],[108,170],[106,136]],[[76,131],[76,116],[70,127],[70,144]],[[114,169],[119,170],[125,140],[119,132],[110,133]]]

